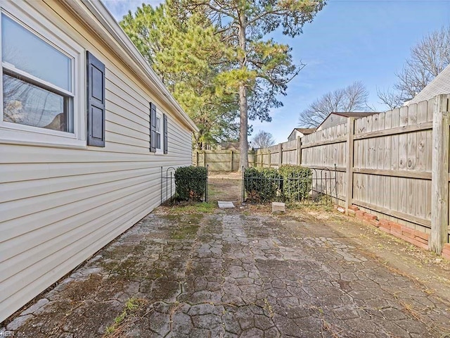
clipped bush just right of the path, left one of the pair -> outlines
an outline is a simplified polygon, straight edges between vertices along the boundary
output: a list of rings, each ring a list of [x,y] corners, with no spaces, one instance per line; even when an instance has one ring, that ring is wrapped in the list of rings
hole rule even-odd
[[[248,168],[244,172],[244,189],[248,201],[266,203],[279,195],[282,180],[276,169]]]

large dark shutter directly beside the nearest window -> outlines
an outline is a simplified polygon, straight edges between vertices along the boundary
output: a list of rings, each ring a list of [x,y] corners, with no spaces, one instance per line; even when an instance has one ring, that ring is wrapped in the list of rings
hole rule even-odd
[[[87,145],[105,146],[105,65],[89,51],[87,64]]]

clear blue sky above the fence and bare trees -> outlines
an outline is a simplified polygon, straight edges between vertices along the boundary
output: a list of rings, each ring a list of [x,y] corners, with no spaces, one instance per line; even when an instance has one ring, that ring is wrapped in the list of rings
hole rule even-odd
[[[153,6],[158,0],[103,0],[117,20],[134,11],[142,2]],[[354,81],[363,82],[368,103],[384,110],[378,89],[392,87],[414,44],[433,30],[450,25],[450,1],[432,0],[330,0],[313,23],[304,26],[295,38],[275,35],[293,47],[294,61],[307,66],[288,86],[284,106],[272,111],[271,123],[250,121],[254,133],[274,135],[285,142],[298,115],[312,101]],[[252,139],[252,137],[250,137]]]

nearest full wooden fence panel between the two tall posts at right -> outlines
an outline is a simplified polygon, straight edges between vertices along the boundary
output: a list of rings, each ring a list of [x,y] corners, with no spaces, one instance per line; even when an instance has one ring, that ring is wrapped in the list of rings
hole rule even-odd
[[[421,102],[355,120],[353,204],[429,230],[432,109]]]

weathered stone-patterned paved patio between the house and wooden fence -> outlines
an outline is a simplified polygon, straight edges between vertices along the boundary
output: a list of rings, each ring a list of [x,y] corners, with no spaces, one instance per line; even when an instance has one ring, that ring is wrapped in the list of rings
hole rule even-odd
[[[448,300],[323,223],[152,214],[0,331],[15,337],[450,337]],[[2,335],[3,334],[3,335]]]

